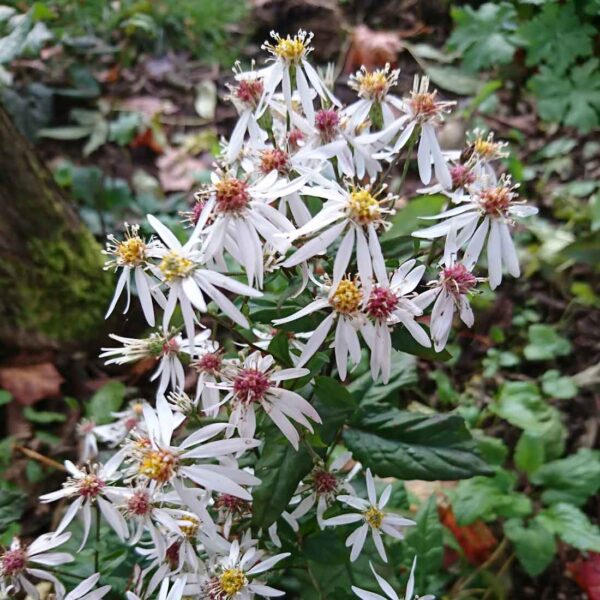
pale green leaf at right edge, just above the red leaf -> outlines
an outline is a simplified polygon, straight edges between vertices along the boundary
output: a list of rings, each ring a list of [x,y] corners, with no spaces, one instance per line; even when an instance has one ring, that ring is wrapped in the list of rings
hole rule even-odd
[[[546,529],[563,542],[579,550],[600,552],[600,530],[572,504],[559,503],[546,508],[537,516]]]

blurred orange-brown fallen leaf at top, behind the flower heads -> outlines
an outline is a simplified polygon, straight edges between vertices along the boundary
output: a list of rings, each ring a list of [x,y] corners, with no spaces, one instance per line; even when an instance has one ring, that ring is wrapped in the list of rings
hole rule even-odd
[[[394,65],[402,50],[400,35],[394,31],[373,31],[366,25],[359,25],[352,34],[352,42],[346,57],[345,73],[354,73],[364,65],[369,71]]]

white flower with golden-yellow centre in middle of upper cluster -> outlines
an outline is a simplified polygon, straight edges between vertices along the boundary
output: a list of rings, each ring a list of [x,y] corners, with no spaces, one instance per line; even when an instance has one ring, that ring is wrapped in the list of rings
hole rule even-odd
[[[386,215],[394,214],[395,198],[386,195],[379,198],[369,186],[345,190],[337,184],[307,187],[304,194],[325,198],[323,208],[308,223],[297,229],[293,238],[311,236],[282,265],[293,267],[318,254],[323,254],[341,238],[333,264],[335,287],[341,280],[352,254],[356,252],[358,273],[368,294],[372,285],[373,273],[380,277],[385,274],[385,262],[379,244],[377,229],[386,226]]]

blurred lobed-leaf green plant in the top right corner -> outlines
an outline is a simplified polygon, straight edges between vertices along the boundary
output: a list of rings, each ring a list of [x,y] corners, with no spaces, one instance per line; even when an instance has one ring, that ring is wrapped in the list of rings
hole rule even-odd
[[[448,47],[462,54],[470,72],[501,66],[500,76],[520,86],[524,78],[539,116],[581,132],[600,124],[600,70],[594,58],[595,0],[485,3],[452,9]],[[525,67],[515,64],[517,50]]]

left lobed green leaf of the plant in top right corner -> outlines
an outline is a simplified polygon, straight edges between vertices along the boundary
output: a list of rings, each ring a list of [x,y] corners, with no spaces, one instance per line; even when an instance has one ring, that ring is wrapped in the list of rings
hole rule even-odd
[[[469,71],[480,71],[512,61],[517,13],[508,2],[487,2],[474,10],[470,6],[453,8],[454,31],[448,47],[463,55]]]

